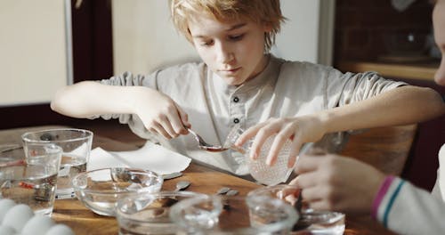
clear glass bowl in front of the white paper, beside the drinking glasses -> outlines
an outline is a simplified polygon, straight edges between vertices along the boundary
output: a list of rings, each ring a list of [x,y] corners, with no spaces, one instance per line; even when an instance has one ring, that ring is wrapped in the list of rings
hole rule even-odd
[[[85,207],[98,215],[115,216],[118,199],[146,192],[158,192],[162,176],[143,169],[115,167],[77,174],[72,186]]]

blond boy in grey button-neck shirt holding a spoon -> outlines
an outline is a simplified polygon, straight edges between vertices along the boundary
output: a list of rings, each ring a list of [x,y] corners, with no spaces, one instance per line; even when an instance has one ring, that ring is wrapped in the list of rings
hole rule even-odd
[[[239,142],[258,133],[254,158],[263,141],[278,134],[270,164],[282,142],[292,137],[288,161],[293,166],[301,144],[318,141],[324,134],[439,115],[441,97],[431,89],[269,54],[284,20],[279,0],[170,4],[175,27],[203,62],[149,76],[125,73],[101,83],[70,85],[55,95],[52,109],[76,118],[119,118],[135,134],[238,175],[248,174],[242,154],[198,150],[184,126],[192,126],[213,144],[222,144],[235,124],[244,129],[254,126]]]

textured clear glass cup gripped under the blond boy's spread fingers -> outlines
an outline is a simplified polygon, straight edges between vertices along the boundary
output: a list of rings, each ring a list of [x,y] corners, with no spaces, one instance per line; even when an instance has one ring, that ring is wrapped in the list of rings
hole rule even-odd
[[[276,185],[280,182],[286,182],[293,170],[293,167],[287,167],[291,142],[287,141],[283,145],[283,148],[279,151],[277,161],[273,166],[269,166],[266,164],[266,158],[269,154],[269,150],[271,150],[271,145],[274,140],[273,136],[263,143],[258,158],[253,160],[249,158],[249,150],[252,145],[252,140],[246,142],[241,148],[234,145],[239,136],[243,133],[244,130],[241,129],[239,125],[233,126],[224,143],[224,148],[238,150],[245,155],[249,172],[257,182],[265,185]],[[301,152],[303,152],[307,146],[307,144],[303,145]]]

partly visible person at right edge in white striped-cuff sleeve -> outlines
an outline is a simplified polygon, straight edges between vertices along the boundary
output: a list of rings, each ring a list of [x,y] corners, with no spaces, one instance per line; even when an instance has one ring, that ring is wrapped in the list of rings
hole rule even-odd
[[[436,44],[442,59],[434,80],[445,85],[445,0],[433,10]],[[444,104],[439,107],[445,109]],[[310,207],[354,214],[371,214],[400,234],[443,234],[445,223],[445,145],[439,152],[439,171],[430,194],[399,177],[384,175],[356,159],[336,155],[302,156],[299,174],[290,184],[303,188]]]

